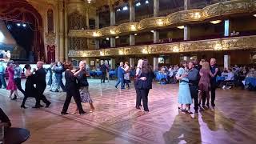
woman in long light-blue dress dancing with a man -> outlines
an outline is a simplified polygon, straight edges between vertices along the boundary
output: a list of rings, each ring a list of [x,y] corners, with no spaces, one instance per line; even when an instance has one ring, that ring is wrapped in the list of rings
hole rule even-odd
[[[187,114],[192,114],[190,111],[190,104],[192,103],[192,98],[190,94],[189,79],[187,78],[187,67],[186,62],[181,62],[181,67],[178,69],[176,78],[179,80],[178,87],[178,110],[185,111]],[[183,109],[183,105],[186,105],[186,108]]]

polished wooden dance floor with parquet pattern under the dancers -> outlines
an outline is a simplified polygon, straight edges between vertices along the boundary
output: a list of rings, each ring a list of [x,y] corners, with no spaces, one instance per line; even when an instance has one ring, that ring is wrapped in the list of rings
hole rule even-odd
[[[61,116],[65,93],[45,91],[50,108],[34,110],[30,98],[26,110],[22,100],[8,99],[0,90],[0,106],[15,127],[29,129],[26,143],[254,143],[256,141],[256,93],[247,90],[217,90],[216,108],[199,114],[178,113],[178,85],[154,83],[150,91],[150,113],[134,108],[135,91],[116,90],[113,82],[90,80],[96,110],[85,115]],[[22,95],[22,94],[20,94]],[[74,111],[74,102],[69,112]],[[83,104],[86,111],[89,106]]]

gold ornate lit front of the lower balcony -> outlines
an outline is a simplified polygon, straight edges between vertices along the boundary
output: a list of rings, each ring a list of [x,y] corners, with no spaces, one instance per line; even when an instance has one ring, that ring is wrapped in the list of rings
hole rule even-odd
[[[70,50],[69,57],[104,57],[138,54],[172,54],[214,50],[256,50],[256,35],[202,41],[174,42],[146,46],[128,46],[102,50]]]

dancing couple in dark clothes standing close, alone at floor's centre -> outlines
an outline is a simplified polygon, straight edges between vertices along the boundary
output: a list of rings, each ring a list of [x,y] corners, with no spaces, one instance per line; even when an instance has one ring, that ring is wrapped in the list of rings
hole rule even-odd
[[[136,90],[136,109],[141,110],[141,101],[145,112],[149,112],[148,95],[152,89],[154,72],[147,59],[138,60],[138,66],[134,78],[134,87]]]

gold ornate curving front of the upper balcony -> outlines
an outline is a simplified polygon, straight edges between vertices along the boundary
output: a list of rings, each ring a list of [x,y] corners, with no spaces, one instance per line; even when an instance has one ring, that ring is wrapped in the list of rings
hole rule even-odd
[[[109,26],[98,30],[70,30],[70,37],[98,38],[118,34],[154,30],[164,26],[176,26],[185,22],[202,22],[206,19],[217,18],[232,14],[253,14],[256,11],[256,1],[233,0],[220,2],[202,9],[182,10],[166,17],[145,18],[140,22],[127,22],[119,26]]]

